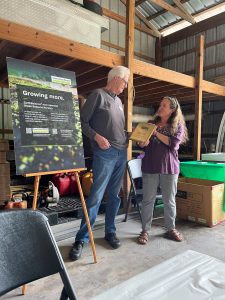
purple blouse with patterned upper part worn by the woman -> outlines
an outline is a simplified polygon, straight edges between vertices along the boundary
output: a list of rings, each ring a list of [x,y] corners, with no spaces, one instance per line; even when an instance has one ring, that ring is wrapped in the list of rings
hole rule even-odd
[[[149,174],[179,174],[180,162],[178,149],[184,134],[182,125],[178,125],[175,135],[171,135],[168,127],[158,127],[157,131],[169,137],[169,145],[152,136],[150,143],[144,148],[145,156],[142,160],[142,172]]]

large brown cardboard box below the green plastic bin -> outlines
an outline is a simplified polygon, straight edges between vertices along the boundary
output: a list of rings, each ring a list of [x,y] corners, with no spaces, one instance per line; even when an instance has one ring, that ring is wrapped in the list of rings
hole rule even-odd
[[[224,183],[197,178],[179,178],[177,218],[213,227],[225,220]]]

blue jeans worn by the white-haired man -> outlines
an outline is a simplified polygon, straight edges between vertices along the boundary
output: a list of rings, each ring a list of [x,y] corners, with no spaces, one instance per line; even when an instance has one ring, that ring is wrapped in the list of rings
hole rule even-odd
[[[108,199],[105,212],[105,234],[115,233],[115,217],[120,207],[118,196],[123,174],[126,167],[127,151],[110,147],[107,150],[98,149],[93,156],[93,184],[90,196],[86,200],[86,206],[91,227],[96,220],[99,206],[101,204],[105,190],[108,191]],[[89,242],[89,234],[83,216],[80,230],[77,232],[76,241]]]

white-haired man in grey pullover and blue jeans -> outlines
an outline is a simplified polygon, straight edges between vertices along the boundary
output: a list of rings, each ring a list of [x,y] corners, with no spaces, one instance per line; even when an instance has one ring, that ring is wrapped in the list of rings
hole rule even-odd
[[[120,207],[118,196],[126,166],[127,134],[125,118],[119,94],[127,87],[129,69],[117,66],[108,73],[105,88],[94,90],[81,110],[83,133],[93,146],[93,184],[86,201],[91,226],[96,220],[105,190],[108,200],[105,213],[105,240],[114,249],[120,247],[116,236],[115,217]],[[89,242],[88,228],[83,216],[69,256],[81,257],[84,243]]]

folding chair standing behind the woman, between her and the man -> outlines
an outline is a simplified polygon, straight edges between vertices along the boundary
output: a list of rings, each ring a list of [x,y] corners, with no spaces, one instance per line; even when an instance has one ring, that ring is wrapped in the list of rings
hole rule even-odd
[[[127,221],[128,212],[131,203],[133,203],[134,206],[137,207],[141,219],[141,201],[143,200],[141,164],[142,164],[141,158],[131,159],[127,162],[127,170],[128,170],[131,186],[130,186],[130,191],[127,199],[127,209],[125,213],[124,222]],[[156,195],[154,208],[161,203],[162,203],[162,195],[158,193]]]

